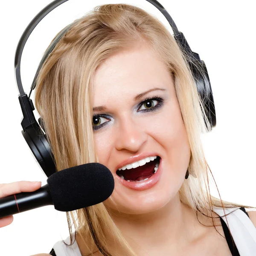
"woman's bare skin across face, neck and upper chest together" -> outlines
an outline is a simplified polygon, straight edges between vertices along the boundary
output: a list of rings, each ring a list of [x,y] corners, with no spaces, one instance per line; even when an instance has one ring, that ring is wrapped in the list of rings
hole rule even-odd
[[[94,111],[94,115],[109,116],[101,119],[107,125],[94,132],[96,153],[115,179],[114,203],[110,199],[104,203],[137,255],[231,256],[227,241],[214,227],[208,227],[212,222],[198,213],[200,223],[195,212],[179,200],[190,148],[174,83],[165,65],[145,45],[137,45],[103,62],[96,70],[93,87],[93,107],[106,107]],[[134,100],[156,87],[164,91],[155,90]],[[140,112],[143,108],[138,106],[144,98],[156,95],[164,99],[161,108]],[[116,166],[144,152],[157,152],[161,157],[163,172],[159,182],[143,191],[123,186],[116,177]],[[249,215],[256,222],[254,213]],[[214,215],[217,230],[224,236],[218,215]],[[81,237],[77,236],[76,241],[82,255],[87,255]],[[111,238],[109,244],[118,255],[124,255]]]

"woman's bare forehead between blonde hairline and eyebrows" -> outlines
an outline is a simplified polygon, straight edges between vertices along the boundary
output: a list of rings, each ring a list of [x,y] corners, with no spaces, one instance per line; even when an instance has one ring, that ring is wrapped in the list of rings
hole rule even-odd
[[[97,69],[93,77],[93,105],[107,104],[122,96],[142,93],[154,87],[172,84],[166,65],[148,47],[123,50]]]

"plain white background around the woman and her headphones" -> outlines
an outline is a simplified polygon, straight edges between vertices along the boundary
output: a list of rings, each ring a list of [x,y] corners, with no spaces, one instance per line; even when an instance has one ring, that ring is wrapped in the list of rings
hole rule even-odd
[[[14,55],[26,26],[50,2],[13,0],[1,4],[0,183],[18,180],[41,180],[46,183],[46,176],[21,134],[22,113],[14,79]],[[42,20],[25,46],[21,61],[25,92],[29,93],[43,52],[59,30],[96,5],[119,2],[135,3],[169,28],[164,16],[145,0],[70,0]],[[161,0],[160,3],[184,33],[192,50],[198,52],[207,64],[217,126],[202,139],[221,197],[226,201],[256,207],[254,1]],[[211,189],[216,196],[215,187]],[[53,206],[34,209],[15,215],[11,225],[1,228],[0,255],[49,253],[56,241],[67,236],[65,213],[55,211]]]

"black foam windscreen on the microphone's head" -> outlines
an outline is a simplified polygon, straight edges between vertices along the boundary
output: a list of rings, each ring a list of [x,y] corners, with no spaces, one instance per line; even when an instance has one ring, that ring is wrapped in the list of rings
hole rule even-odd
[[[69,212],[99,204],[114,189],[110,170],[100,163],[86,163],[56,172],[47,179],[54,207]]]

